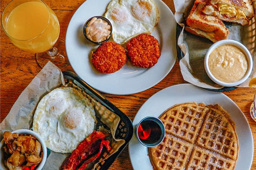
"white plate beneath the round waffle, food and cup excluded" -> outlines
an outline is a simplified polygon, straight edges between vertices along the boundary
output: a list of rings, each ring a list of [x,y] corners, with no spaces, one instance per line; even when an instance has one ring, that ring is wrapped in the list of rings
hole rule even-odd
[[[136,114],[133,125],[137,125],[145,116],[159,117],[171,106],[184,102],[204,102],[205,104],[220,104],[230,113],[236,123],[239,139],[239,156],[235,170],[250,170],[253,161],[253,136],[244,113],[226,95],[207,91],[191,84],[180,84],[165,88],[151,96]],[[129,143],[129,155],[134,170],[153,170],[148,157],[148,149],[135,136]],[[142,166],[143,165],[143,166]]]

